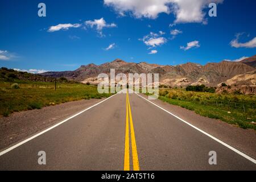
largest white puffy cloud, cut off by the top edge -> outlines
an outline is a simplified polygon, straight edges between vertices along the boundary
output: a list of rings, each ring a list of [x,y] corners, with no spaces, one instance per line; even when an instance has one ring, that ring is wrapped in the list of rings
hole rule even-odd
[[[205,22],[204,9],[209,3],[222,3],[224,0],[104,0],[104,4],[121,16],[127,13],[135,18],[155,19],[160,13],[176,16],[175,23],[203,23]]]

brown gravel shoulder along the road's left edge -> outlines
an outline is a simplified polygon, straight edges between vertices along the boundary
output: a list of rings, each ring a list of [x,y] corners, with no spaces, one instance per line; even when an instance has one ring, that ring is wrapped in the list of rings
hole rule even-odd
[[[105,99],[72,101],[2,117],[0,118],[0,151]]]

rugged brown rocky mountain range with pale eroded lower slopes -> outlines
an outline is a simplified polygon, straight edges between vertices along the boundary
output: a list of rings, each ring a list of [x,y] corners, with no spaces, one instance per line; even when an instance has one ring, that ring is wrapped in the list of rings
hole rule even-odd
[[[255,56],[242,60],[241,62],[222,61],[221,63],[208,63],[200,65],[186,63],[181,65],[158,65],[142,63],[127,63],[116,59],[101,65],[82,65],[75,71],[46,72],[41,75],[48,77],[66,77],[69,80],[90,82],[97,84],[97,76],[100,73],[110,74],[110,69],[118,73],[159,73],[160,84],[170,86],[200,85],[216,86],[236,75],[255,71]]]

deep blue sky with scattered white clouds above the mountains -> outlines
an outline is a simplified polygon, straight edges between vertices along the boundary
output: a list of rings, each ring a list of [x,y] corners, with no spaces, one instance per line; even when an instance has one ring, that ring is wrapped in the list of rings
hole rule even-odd
[[[204,65],[256,54],[255,1],[184,1],[3,0],[0,66],[66,71],[117,58]],[[46,17],[38,16],[40,2]],[[209,17],[209,2],[217,17]]]

